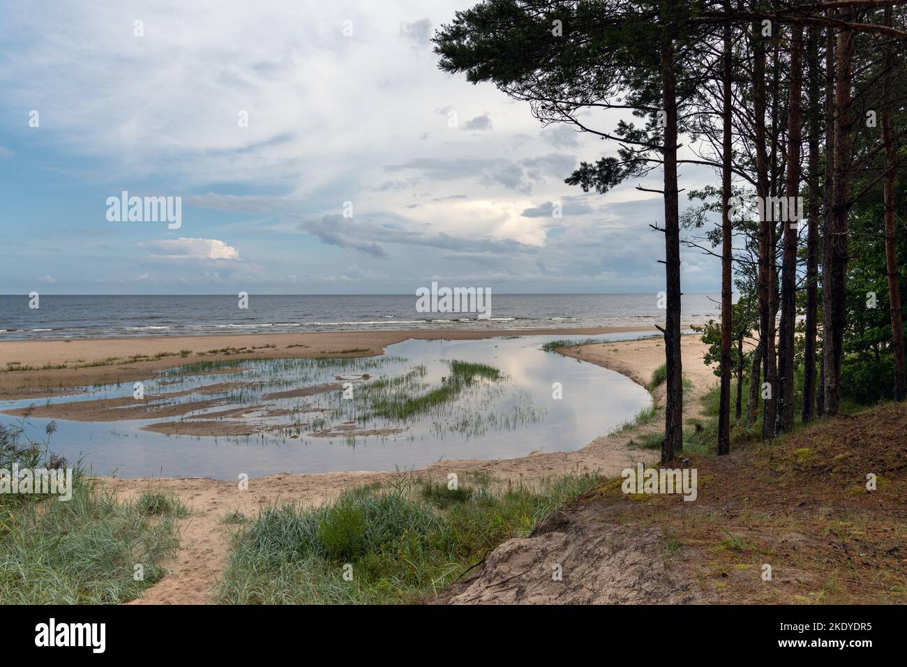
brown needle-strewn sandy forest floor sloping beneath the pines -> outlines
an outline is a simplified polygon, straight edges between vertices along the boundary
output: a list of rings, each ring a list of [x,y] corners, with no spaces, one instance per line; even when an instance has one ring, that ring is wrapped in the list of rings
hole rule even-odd
[[[687,456],[695,501],[610,479],[437,602],[907,602],[907,405]]]

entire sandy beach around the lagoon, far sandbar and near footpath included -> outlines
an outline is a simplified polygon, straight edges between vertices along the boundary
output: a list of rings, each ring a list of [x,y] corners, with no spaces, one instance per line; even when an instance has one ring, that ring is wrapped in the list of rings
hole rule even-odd
[[[0,385],[6,396],[65,393],[78,384],[108,381],[132,381],[147,378],[161,368],[169,368],[204,358],[287,358],[328,357],[337,355],[367,356],[380,354],[385,346],[405,338],[488,338],[501,335],[555,334],[577,338],[597,333],[639,331],[640,329],[550,329],[518,330],[508,333],[469,331],[387,331],[342,332],[330,334],[280,334],[253,336],[219,336],[194,338],[140,338],[64,341],[7,341],[0,343],[0,359],[4,366],[11,361],[41,366],[44,364],[78,365],[108,358],[153,356],[161,352],[175,356],[139,362],[111,363],[83,368],[53,368],[40,371],[6,372]],[[649,330],[649,329],[643,329]],[[653,329],[654,331],[654,329]],[[266,347],[267,346],[267,347]],[[705,346],[696,336],[682,341],[684,374],[693,383],[688,397],[685,417],[699,416],[697,397],[712,387],[717,378],[712,369],[702,363]],[[180,350],[190,355],[180,357]],[[211,353],[210,350],[221,350]],[[658,366],[664,363],[664,343],[661,338],[644,338],[581,348],[562,348],[561,354],[610,368],[646,386]],[[80,361],[81,360],[81,361]],[[212,383],[217,383],[216,378]],[[212,386],[216,386],[212,385]],[[659,387],[655,400],[663,402],[664,388]],[[93,402],[97,403],[97,402]],[[85,420],[103,420],[104,406],[93,406],[90,415],[75,416]],[[68,415],[73,418],[73,415]],[[62,418],[67,418],[62,417]],[[631,417],[631,416],[628,416]],[[572,452],[533,453],[530,456],[499,460],[443,460],[416,471],[419,476],[446,478],[450,473],[463,475],[481,472],[499,482],[513,481],[532,484],[548,476],[578,472],[599,472],[614,475],[650,453],[628,447],[631,435],[643,436],[664,427],[663,410],[658,417],[631,432],[617,435],[602,434],[587,446]],[[172,490],[189,509],[181,521],[181,546],[174,562],[168,564],[171,576],[154,585],[135,603],[209,603],[210,591],[229,553],[227,529],[220,525],[224,515],[239,511],[255,515],[259,508],[278,502],[318,504],[330,500],[351,486],[387,481],[393,476],[414,471],[370,472],[351,471],[312,475],[271,475],[254,477],[248,490],[239,490],[237,483],[210,478],[112,478],[102,482],[125,496],[140,495],[148,490]]]

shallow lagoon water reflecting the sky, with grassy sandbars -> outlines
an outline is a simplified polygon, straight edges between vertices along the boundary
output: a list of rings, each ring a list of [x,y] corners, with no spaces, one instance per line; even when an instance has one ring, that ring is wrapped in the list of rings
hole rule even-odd
[[[642,338],[617,333],[590,337],[606,340]],[[344,470],[395,470],[427,466],[440,459],[513,458],[532,451],[572,451],[631,419],[649,406],[649,393],[619,373],[572,358],[545,352],[541,345],[561,337],[523,336],[483,340],[410,339],[390,346],[376,358],[339,359],[335,362],[278,359],[235,362],[236,368],[217,375],[185,374],[171,369],[145,382],[146,395],[186,392],[212,383],[235,385],[215,397],[221,405],[181,417],[232,407],[267,404],[247,417],[268,428],[253,436],[169,436],[142,430],[161,417],[114,422],[56,420],[50,438],[54,452],[69,460],[80,456],[83,465],[101,475],[210,476],[237,478],[239,473],[319,473]],[[405,381],[405,390],[424,394],[450,377],[452,360],[478,362],[498,368],[502,378],[477,381],[444,405],[403,421],[379,417],[369,409],[368,383],[391,378]],[[191,367],[190,367],[191,368]],[[363,374],[366,380],[358,380]],[[306,397],[263,398],[297,387],[351,381],[342,388]],[[409,378],[404,380],[404,378]],[[562,398],[552,397],[561,383]],[[241,387],[240,387],[241,385]],[[78,396],[51,402],[132,396],[132,384],[86,388]],[[346,396],[346,397],[345,397]],[[198,400],[187,393],[169,402]],[[205,396],[210,398],[211,396]],[[374,397],[374,392],[372,394]],[[34,400],[0,402],[0,410],[26,407]],[[44,403],[44,401],[42,401]],[[370,414],[371,413],[371,414]],[[5,424],[17,417],[0,415]],[[395,435],[314,436],[332,426],[357,421],[359,427],[400,429]],[[28,433],[44,439],[49,419],[29,417]]]

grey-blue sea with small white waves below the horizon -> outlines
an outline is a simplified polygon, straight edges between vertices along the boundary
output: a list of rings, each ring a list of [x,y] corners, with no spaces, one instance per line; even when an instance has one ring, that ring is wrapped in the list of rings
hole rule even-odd
[[[684,323],[717,319],[717,294],[685,294]],[[0,296],[0,339],[375,329],[536,329],[663,323],[656,294],[492,294],[491,319],[422,313],[414,295]]]

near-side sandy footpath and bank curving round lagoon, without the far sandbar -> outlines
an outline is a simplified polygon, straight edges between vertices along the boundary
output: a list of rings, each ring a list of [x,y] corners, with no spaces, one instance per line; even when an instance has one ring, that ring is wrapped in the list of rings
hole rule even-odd
[[[702,363],[705,346],[696,336],[685,336],[681,344],[684,374],[692,381],[685,415],[701,417],[697,397],[712,387],[717,377]],[[660,338],[629,340],[603,345],[563,350],[564,354],[580,358],[605,368],[616,370],[645,386],[652,371],[664,362],[664,343]],[[664,388],[655,392],[659,404]],[[650,457],[648,452],[629,449],[631,436],[639,437],[664,429],[664,412],[647,425],[628,429],[615,436],[600,436],[589,445],[574,452],[532,454],[522,458],[474,461],[442,461],[420,471],[420,475],[445,478],[448,473],[462,475],[481,471],[497,479],[533,482],[546,476],[571,472],[599,471],[615,475],[621,469]],[[259,507],[281,501],[301,501],[317,504],[336,497],[351,486],[384,481],[396,473],[353,472],[317,475],[272,475],[249,480],[249,490],[240,491],[232,482],[206,478],[164,479],[107,479],[106,483],[125,495],[138,495],[146,490],[172,489],[190,509],[190,515],[180,522],[180,551],[168,564],[171,576],[155,584],[135,603],[211,603],[211,590],[229,553],[227,529],[220,519],[239,510],[255,515]]]

